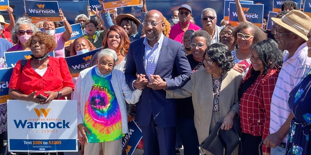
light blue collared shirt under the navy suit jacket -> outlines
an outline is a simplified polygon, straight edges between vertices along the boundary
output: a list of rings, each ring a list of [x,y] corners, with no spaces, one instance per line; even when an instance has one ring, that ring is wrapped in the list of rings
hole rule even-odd
[[[164,35],[161,33],[160,39],[155,43],[154,47],[151,47],[148,44],[147,37],[145,37],[143,44],[145,45],[145,54],[144,54],[144,67],[146,74],[150,79],[150,75],[155,73],[155,68],[157,66],[157,61],[159,59],[161,48],[163,45]]]

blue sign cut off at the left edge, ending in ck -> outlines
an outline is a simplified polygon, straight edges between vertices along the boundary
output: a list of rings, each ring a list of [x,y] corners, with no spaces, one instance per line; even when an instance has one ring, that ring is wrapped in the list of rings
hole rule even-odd
[[[5,104],[8,99],[12,99],[9,94],[9,81],[13,68],[0,69],[0,105]]]

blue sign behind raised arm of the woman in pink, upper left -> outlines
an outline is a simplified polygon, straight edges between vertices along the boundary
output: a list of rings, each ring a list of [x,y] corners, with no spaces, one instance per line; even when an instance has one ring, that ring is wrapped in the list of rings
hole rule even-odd
[[[81,23],[77,23],[77,24],[72,24],[70,25],[71,29],[72,29],[72,33],[71,33],[71,37],[69,39],[69,41],[67,41],[65,43],[65,47],[69,46],[70,43],[72,43],[75,39],[83,36],[83,31],[82,31],[82,27],[81,27]],[[59,27],[56,28],[56,33],[61,33],[65,31],[65,27]]]

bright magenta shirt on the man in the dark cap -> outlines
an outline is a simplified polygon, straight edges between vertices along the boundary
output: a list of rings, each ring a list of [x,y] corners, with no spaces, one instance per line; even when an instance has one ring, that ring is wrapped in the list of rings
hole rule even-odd
[[[201,30],[201,28],[192,22],[189,22],[189,27],[188,30],[194,30],[198,31]],[[170,38],[173,39],[174,41],[177,41],[179,43],[182,43],[183,39],[182,36],[185,33],[183,29],[181,29],[180,22],[172,26],[171,31],[170,31]]]

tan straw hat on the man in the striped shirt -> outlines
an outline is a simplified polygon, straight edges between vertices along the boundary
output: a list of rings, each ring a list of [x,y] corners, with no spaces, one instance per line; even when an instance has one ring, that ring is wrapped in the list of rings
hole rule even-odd
[[[292,31],[304,40],[308,40],[307,34],[311,28],[311,18],[305,13],[292,10],[282,18],[271,18],[275,23],[281,27]]]

